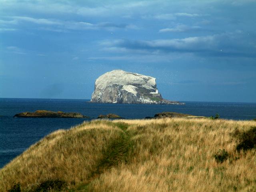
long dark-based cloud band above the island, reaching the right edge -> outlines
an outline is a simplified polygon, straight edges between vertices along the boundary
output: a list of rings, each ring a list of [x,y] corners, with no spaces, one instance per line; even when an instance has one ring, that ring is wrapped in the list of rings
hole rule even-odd
[[[255,42],[248,42],[240,33],[159,40],[105,40],[105,50],[122,49],[126,52],[146,54],[192,53],[214,57],[256,57]]]

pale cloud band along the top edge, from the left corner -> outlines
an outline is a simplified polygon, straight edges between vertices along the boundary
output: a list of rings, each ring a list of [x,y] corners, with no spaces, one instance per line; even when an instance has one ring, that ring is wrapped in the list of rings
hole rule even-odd
[[[36,14],[75,14],[82,16],[107,17],[124,13],[131,13],[136,9],[146,8],[152,4],[157,4],[154,1],[73,1],[73,0],[35,0],[35,1],[20,1],[20,0],[0,0],[0,11],[10,12],[12,10],[20,10],[21,12],[31,12]]]

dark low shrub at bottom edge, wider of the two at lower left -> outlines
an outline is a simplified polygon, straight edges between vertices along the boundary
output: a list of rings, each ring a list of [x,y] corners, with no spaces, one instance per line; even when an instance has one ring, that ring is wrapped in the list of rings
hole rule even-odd
[[[67,186],[66,181],[60,179],[48,179],[36,187],[34,192],[48,192],[50,190],[61,191]]]

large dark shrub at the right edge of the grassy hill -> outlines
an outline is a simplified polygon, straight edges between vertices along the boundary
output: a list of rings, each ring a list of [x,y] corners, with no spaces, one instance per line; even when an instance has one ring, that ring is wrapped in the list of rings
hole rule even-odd
[[[236,132],[236,137],[238,137],[236,150],[248,150],[256,147],[256,127],[252,127],[246,131]]]

